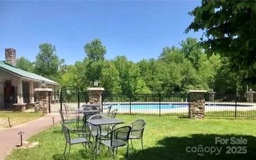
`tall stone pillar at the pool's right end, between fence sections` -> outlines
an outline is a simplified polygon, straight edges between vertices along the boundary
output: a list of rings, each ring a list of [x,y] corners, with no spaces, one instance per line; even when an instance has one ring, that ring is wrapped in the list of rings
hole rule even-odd
[[[189,117],[191,119],[203,119],[205,110],[206,90],[190,90],[189,91]]]

